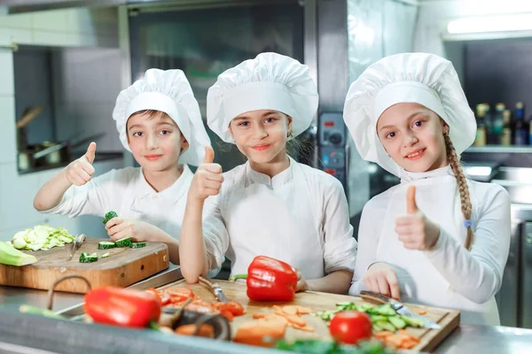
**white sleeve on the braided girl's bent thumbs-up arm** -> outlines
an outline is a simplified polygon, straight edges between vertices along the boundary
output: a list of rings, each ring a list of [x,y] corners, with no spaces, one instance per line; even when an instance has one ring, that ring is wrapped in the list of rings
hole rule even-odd
[[[510,196],[505,189],[483,196],[482,202],[485,210],[478,216],[471,251],[441,227],[434,248],[424,252],[454,291],[477,304],[487,302],[501,287],[511,235]]]

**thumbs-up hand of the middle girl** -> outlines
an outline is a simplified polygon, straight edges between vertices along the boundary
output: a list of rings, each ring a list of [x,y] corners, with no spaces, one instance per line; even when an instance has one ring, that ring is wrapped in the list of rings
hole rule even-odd
[[[192,178],[189,198],[202,202],[208,196],[216,196],[220,193],[223,182],[222,166],[213,163],[214,160],[215,151],[212,147],[206,146],[203,163],[198,166]]]

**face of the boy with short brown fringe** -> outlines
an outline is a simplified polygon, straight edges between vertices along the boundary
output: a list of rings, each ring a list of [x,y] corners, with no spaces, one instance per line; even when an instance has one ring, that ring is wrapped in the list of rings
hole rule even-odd
[[[179,162],[189,147],[174,119],[159,111],[137,112],[126,126],[129,149],[145,170],[165,171]]]

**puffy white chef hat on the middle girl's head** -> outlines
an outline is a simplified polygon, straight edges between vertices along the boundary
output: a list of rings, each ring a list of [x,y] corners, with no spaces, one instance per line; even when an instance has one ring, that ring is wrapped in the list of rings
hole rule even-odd
[[[292,117],[296,136],[310,126],[317,103],[309,66],[277,53],[261,53],[221,73],[208,89],[207,124],[224,142],[234,142],[228,130],[231,119],[273,110]]]

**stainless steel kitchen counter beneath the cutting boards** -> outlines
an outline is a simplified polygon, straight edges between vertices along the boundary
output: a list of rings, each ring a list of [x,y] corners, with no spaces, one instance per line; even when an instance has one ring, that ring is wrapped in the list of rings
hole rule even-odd
[[[169,282],[182,279],[178,266],[170,266],[152,278],[140,281],[131,288],[147,289],[160,287]],[[143,332],[120,327],[87,326],[79,322],[45,319],[20,314],[20,304],[33,304],[45,307],[47,292],[43,290],[0,287],[0,352],[25,353],[36,352],[28,348],[48,350],[57,353],[79,353],[95,351],[98,353],[113,352],[146,352],[146,348],[157,342],[160,350],[156,352],[181,353],[274,353],[277,350],[249,348],[227,342],[168,336],[159,333]],[[82,295],[58,293],[54,296],[53,310],[68,316],[82,313]],[[71,334],[67,343],[65,330]],[[32,333],[32,340],[27,340],[27,333]],[[75,335],[77,332],[83,335]],[[91,340],[98,336],[98,341]],[[113,341],[113,337],[126,340]],[[105,343],[109,343],[104,345]],[[113,344],[110,344],[113,343]],[[126,348],[128,350],[126,350]],[[153,348],[154,349],[154,348]],[[26,351],[27,350],[27,351]],[[150,350],[153,351],[153,350]],[[532,330],[513,327],[489,327],[461,325],[434,351],[442,354],[458,353],[525,353],[532,352]]]

